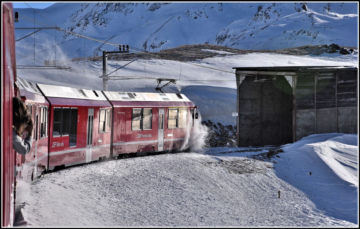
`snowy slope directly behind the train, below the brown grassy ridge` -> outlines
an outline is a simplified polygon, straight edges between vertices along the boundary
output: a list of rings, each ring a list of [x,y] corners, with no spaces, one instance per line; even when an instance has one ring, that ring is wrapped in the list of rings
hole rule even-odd
[[[266,66],[357,66],[358,54],[328,54],[323,56],[295,56],[274,53],[249,53],[245,55],[225,55],[190,61],[202,65],[234,72],[233,67],[266,67]],[[20,63],[31,63],[32,60],[22,59]],[[129,61],[108,61],[108,72],[116,70]],[[102,61],[82,60],[58,62],[58,65],[71,66],[72,70],[17,69],[19,77],[33,83],[53,84],[59,86],[103,90]],[[41,65],[41,64],[40,64]],[[116,67],[117,66],[117,67]],[[29,67],[24,67],[29,68]],[[84,71],[85,70],[85,71]],[[180,76],[181,72],[181,76]],[[112,75],[116,76],[116,73]],[[173,60],[139,59],[117,71],[117,75],[131,76],[135,79],[121,79],[108,82],[108,91],[156,92],[157,83],[154,78],[178,79],[176,84],[163,88],[166,93],[183,93],[195,105],[203,120],[211,120],[223,125],[236,125],[236,80],[235,74],[201,68]],[[136,77],[150,79],[136,79]],[[163,85],[163,84],[162,84]]]

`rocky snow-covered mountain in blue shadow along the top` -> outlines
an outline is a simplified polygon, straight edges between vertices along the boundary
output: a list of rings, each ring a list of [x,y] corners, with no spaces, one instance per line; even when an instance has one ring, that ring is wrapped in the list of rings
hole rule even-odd
[[[31,5],[31,4],[30,4]],[[272,50],[336,43],[357,46],[357,3],[55,3],[45,9],[14,9],[15,27],[54,27],[147,51],[194,43]],[[28,17],[28,18],[24,18]],[[35,24],[32,19],[35,17]],[[51,22],[50,22],[51,21]],[[53,24],[53,23],[55,24]],[[30,30],[31,32],[31,30]],[[16,39],[30,33],[16,30]],[[34,53],[33,35],[16,42]],[[57,55],[102,55],[112,45],[56,33]],[[55,31],[35,33],[35,55],[54,56]],[[23,55],[22,54],[22,55]],[[32,56],[31,56],[32,57]],[[52,57],[53,59],[53,57]]]

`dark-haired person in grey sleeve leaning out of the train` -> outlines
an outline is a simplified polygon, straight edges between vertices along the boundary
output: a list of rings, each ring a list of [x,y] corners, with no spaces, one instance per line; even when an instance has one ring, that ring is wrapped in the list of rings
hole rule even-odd
[[[16,152],[26,155],[31,150],[34,125],[28,114],[27,106],[18,97],[13,97],[13,148]],[[28,132],[23,139],[22,134]]]

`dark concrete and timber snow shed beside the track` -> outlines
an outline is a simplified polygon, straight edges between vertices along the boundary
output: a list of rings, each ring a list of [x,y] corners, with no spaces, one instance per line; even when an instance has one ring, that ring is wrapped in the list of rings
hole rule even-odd
[[[268,74],[271,71],[237,69],[244,74],[263,72],[237,75],[242,79],[238,81],[238,146],[281,145],[311,134],[358,133],[356,68],[292,67],[273,70],[278,74],[275,78]],[[279,72],[294,74],[287,81]]]

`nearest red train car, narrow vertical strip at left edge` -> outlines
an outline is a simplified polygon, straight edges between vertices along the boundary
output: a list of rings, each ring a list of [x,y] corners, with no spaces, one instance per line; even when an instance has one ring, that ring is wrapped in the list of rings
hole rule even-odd
[[[15,153],[13,150],[13,96],[16,81],[15,35],[12,3],[2,3],[3,9],[3,86],[2,121],[2,226],[13,226],[15,210]]]

